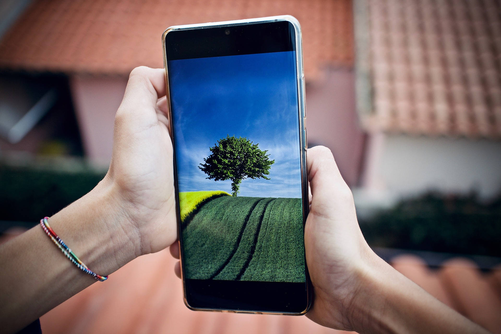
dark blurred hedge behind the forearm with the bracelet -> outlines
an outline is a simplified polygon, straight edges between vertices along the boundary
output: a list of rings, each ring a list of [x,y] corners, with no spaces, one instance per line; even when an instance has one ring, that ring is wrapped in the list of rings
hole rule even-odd
[[[38,223],[88,193],[104,173],[0,165],[0,220]]]

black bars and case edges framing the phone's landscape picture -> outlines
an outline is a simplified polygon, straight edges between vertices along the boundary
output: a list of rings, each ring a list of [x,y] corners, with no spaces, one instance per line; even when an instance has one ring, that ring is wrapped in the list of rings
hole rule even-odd
[[[169,97],[170,87],[168,85],[168,61],[180,59],[206,58],[235,56],[244,54],[259,54],[270,52],[296,51],[297,74],[298,74],[298,94],[300,103],[300,138],[302,149],[302,184],[303,184],[303,226],[308,215],[308,188],[306,170],[306,128],[304,126],[304,75],[302,65],[301,30],[297,20],[276,19],[266,22],[233,22],[215,26],[192,26],[172,27],[164,32],[163,51],[164,65],[167,84],[167,97]],[[241,29],[239,29],[241,27]],[[276,28],[278,27],[278,28]],[[235,30],[236,28],[236,30]],[[257,29],[255,29],[257,28]],[[276,29],[273,29],[276,28]],[[224,33],[225,29],[231,29],[230,34]],[[287,34],[284,30],[287,29]],[[272,32],[278,32],[282,43],[276,43],[277,37],[270,36]],[[189,32],[189,33],[186,33]],[[235,33],[237,32],[237,33]],[[262,38],[257,38],[260,33],[266,32]],[[201,34],[200,34],[201,33]],[[222,33],[222,34],[221,34]],[[232,34],[233,33],[233,34]],[[172,36],[172,38],[170,36]],[[298,37],[299,35],[299,37]],[[205,41],[201,36],[206,37]],[[221,42],[229,39],[240,39],[241,43],[227,43],[226,46],[214,47],[223,44]],[[245,43],[243,43],[245,42]],[[177,48],[177,50],[176,50]],[[198,50],[200,49],[200,50]],[[183,51],[179,51],[183,50]],[[170,101],[169,101],[170,112]],[[169,115],[172,120],[172,115]],[[173,126],[170,127],[170,134],[173,140]],[[174,143],[173,143],[174,144]],[[176,173],[175,145],[174,150],[174,173]],[[176,173],[177,174],[177,173]],[[174,178],[176,191],[176,209],[179,221],[179,199],[177,178]],[[179,247],[182,263],[182,240],[178,233]],[[181,270],[181,275],[183,275]],[[272,314],[305,314],[312,303],[313,290],[309,277],[305,258],[305,282],[267,282],[267,281],[227,281],[227,280],[183,280],[184,302],[186,306],[193,310],[215,310],[245,313],[272,313]],[[223,296],[223,298],[221,298]]]

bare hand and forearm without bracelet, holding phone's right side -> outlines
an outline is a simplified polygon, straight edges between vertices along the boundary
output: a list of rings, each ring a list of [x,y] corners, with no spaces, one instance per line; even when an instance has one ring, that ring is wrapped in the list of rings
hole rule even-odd
[[[311,198],[306,262],[313,321],[359,333],[485,333],[377,256],[357,222],[350,189],[331,151],[308,149]]]

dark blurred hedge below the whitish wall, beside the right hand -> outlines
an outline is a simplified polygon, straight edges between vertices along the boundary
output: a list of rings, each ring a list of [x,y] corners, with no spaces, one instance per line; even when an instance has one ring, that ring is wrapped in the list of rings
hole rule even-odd
[[[501,256],[501,197],[427,193],[402,200],[360,227],[371,246]]]

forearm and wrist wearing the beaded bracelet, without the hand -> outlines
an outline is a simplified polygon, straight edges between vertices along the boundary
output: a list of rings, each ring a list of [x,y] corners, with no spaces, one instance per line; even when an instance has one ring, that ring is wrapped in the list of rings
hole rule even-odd
[[[133,242],[137,234],[127,235],[127,218],[114,194],[113,185],[103,180],[49,219],[74,253],[100,275],[139,255]],[[0,324],[7,332],[19,330],[96,282],[72,264],[40,226],[0,246],[0,268]]]

